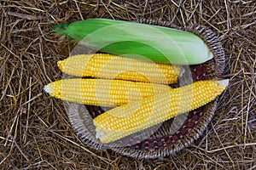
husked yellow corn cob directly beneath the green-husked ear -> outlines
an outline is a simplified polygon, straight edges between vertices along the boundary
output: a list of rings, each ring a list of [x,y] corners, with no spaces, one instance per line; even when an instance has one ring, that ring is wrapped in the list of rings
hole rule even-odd
[[[58,61],[61,71],[77,77],[98,77],[136,82],[177,83],[180,67],[155,64],[111,54],[79,54]]]

